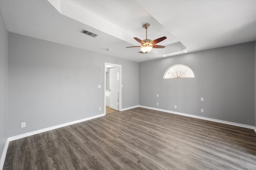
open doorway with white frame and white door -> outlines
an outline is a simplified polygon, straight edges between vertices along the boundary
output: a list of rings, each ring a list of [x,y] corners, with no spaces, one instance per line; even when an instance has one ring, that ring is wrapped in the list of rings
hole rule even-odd
[[[122,65],[104,63],[104,114],[122,109]]]

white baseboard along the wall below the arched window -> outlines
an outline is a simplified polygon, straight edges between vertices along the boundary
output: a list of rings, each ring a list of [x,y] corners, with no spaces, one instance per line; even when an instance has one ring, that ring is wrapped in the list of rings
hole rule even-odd
[[[143,107],[143,108],[146,108],[146,109],[157,110],[157,111],[164,111],[164,112],[173,113],[173,114],[176,114],[176,115],[183,115],[183,116],[187,116],[187,117],[194,117],[194,118],[197,118],[197,119],[203,119],[203,120],[208,120],[208,121],[215,121],[215,122],[224,123],[224,124],[227,124],[227,125],[234,125],[234,126],[238,126],[238,127],[244,127],[244,128],[248,128],[248,129],[254,129],[254,131],[256,132],[255,127],[254,127],[254,126],[250,126],[250,125],[244,125],[244,124],[234,123],[234,122],[230,122],[230,121],[212,119],[212,118],[202,117],[202,116],[197,116],[197,115],[190,115],[190,114],[186,114],[186,113],[180,113],[180,112],[176,112],[176,111],[158,109],[158,108],[148,107],[148,106],[140,106],[140,105],[139,105],[139,107]]]

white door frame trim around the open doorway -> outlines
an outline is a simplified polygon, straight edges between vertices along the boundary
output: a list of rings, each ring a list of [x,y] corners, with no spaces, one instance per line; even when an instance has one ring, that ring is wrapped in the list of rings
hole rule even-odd
[[[104,115],[106,115],[106,65],[119,67],[118,111],[122,110],[122,65],[104,63]]]

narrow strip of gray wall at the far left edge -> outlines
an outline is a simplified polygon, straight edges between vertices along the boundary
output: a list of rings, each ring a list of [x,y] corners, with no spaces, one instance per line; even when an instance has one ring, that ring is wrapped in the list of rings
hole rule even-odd
[[[8,31],[0,10],[0,156],[8,138]]]

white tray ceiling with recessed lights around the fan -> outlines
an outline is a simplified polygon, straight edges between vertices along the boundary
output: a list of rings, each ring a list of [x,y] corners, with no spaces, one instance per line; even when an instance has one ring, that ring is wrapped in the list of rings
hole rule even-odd
[[[136,62],[256,40],[256,0],[0,0],[0,9],[10,32]],[[167,37],[148,57],[125,48],[146,38],[144,23],[148,39]]]

